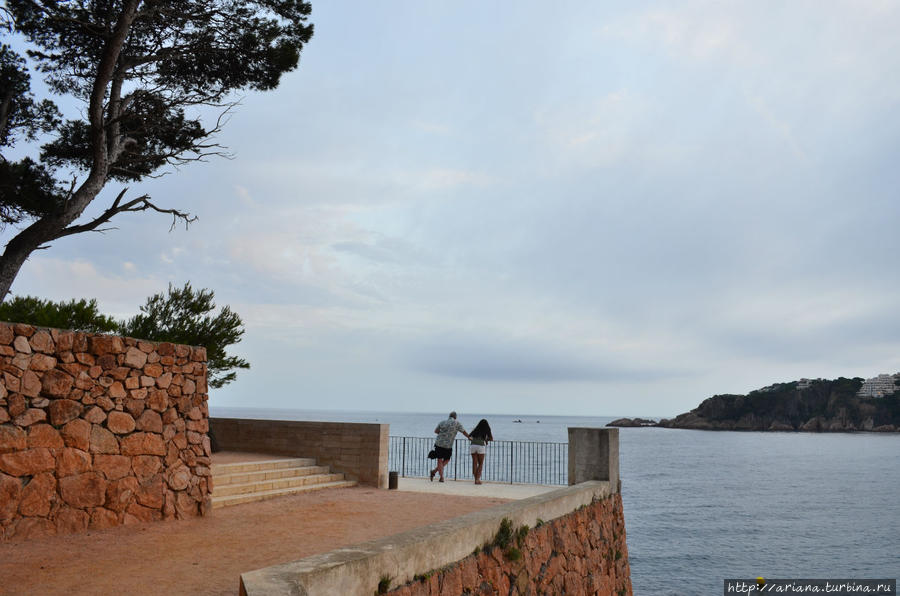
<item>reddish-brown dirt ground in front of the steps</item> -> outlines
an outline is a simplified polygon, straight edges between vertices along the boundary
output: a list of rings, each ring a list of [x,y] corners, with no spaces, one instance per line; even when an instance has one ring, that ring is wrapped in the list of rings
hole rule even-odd
[[[216,509],[205,518],[0,543],[0,594],[234,595],[243,572],[503,502],[353,487]]]

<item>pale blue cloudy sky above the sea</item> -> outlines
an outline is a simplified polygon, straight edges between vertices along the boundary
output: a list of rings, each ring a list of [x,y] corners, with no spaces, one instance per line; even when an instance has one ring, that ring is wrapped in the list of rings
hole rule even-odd
[[[671,417],[900,370],[900,4],[316,2],[231,159],[18,295],[243,318],[210,404]],[[101,212],[110,185],[86,212]],[[9,231],[3,237],[9,239]]]

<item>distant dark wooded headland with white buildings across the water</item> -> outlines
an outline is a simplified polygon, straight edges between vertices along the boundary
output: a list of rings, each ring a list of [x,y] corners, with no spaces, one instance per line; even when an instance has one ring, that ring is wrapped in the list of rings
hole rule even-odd
[[[658,422],[620,418],[607,426],[804,432],[900,432],[900,373],[775,383],[747,395],[714,395]]]

